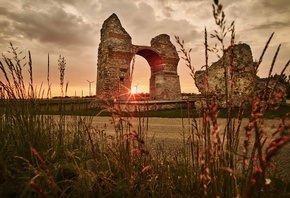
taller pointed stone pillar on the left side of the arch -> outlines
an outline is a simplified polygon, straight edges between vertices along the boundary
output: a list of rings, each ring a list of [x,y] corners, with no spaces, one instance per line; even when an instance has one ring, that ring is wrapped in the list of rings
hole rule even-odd
[[[130,62],[132,39],[116,14],[101,29],[98,49],[97,97],[106,100],[126,99],[131,90]]]

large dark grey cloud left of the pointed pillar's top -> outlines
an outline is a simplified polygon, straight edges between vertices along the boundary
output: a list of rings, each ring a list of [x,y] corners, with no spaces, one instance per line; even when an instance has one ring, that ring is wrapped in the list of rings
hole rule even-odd
[[[54,43],[59,46],[90,45],[87,40],[94,29],[81,18],[53,8],[47,12],[24,10],[21,13],[9,12],[15,28],[15,34],[43,43]]]

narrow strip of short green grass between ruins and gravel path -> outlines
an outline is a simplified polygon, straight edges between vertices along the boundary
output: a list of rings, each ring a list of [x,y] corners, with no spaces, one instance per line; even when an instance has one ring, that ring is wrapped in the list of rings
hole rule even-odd
[[[40,114],[46,115],[78,115],[78,116],[111,116],[112,113],[109,110],[100,108],[91,108],[90,104],[94,99],[73,99],[72,101],[61,102],[60,100],[46,100],[46,103],[41,104]],[[63,106],[62,111],[59,111],[59,107]],[[67,110],[65,110],[67,109]],[[239,108],[232,110],[232,115],[235,117],[239,112]],[[265,113],[265,118],[279,118],[284,116],[287,112],[290,112],[290,104],[281,105],[279,108],[269,109]],[[148,116],[148,117],[164,117],[164,118],[187,118],[187,117],[200,117],[201,112],[193,108],[174,108],[167,110],[150,110],[146,112],[123,112],[126,116]],[[131,115],[129,115],[131,114]],[[250,109],[245,110],[243,117],[249,117]],[[227,117],[227,109],[219,109],[219,117]]]

